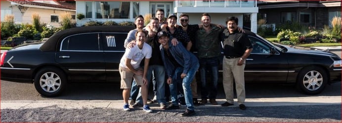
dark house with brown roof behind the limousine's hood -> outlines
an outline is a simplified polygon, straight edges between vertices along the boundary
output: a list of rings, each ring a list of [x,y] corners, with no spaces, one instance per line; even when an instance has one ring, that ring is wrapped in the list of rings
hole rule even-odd
[[[324,28],[333,17],[341,17],[341,0],[263,0],[258,2],[260,18],[267,24],[298,22],[300,25]]]

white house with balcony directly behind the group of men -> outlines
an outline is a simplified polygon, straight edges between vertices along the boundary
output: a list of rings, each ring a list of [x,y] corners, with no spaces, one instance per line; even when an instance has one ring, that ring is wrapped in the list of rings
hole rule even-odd
[[[239,18],[239,27],[245,27],[256,32],[257,12],[256,0],[163,0],[163,1],[76,1],[76,13],[82,13],[85,18],[77,20],[77,26],[88,21],[115,21],[117,23],[133,22],[135,16],[151,13],[156,9],[165,10],[165,17],[175,13],[179,17],[187,13],[190,24],[201,23],[203,13],[211,15],[212,23],[225,24],[228,16]],[[178,21],[177,21],[178,22]]]

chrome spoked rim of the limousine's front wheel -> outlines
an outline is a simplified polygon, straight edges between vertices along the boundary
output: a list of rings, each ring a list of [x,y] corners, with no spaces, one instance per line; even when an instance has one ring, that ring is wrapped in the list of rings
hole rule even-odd
[[[303,78],[303,85],[309,91],[318,90],[323,84],[323,76],[318,71],[309,71]]]

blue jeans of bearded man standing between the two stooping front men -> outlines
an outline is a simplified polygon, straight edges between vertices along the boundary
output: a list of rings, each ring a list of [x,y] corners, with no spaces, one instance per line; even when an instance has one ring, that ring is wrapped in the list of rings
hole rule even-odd
[[[148,66],[148,70],[147,70],[147,74],[146,74],[146,79],[147,79],[147,87],[149,87],[150,82],[151,82],[151,78],[155,78],[156,80],[156,86],[157,87],[157,92],[156,92],[156,96],[157,96],[157,100],[158,103],[164,103],[166,104],[166,100],[165,100],[165,67],[162,65],[149,65]],[[154,84],[154,83],[153,83]],[[136,98],[137,103],[142,104],[142,96],[141,96],[141,90],[139,89],[139,94]]]

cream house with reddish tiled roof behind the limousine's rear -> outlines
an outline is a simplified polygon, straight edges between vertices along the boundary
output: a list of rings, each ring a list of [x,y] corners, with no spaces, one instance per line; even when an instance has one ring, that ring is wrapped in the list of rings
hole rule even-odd
[[[38,13],[41,23],[60,27],[60,15],[70,12],[75,19],[75,3],[57,0],[1,0],[1,21],[8,14],[14,15],[15,23],[32,24],[32,14]]]

